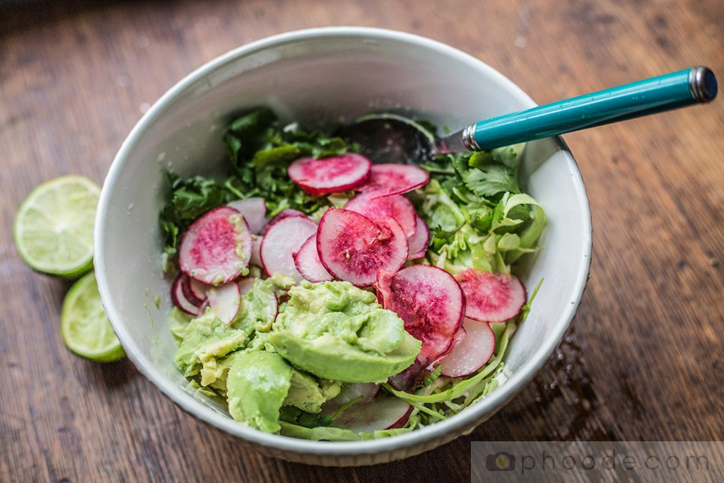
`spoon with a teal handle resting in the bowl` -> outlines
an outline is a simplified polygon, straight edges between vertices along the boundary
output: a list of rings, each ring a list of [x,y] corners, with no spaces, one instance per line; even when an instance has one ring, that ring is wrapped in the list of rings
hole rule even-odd
[[[418,164],[437,154],[487,151],[704,103],[716,95],[714,73],[692,67],[476,122],[444,138],[397,114],[358,117],[341,135],[359,143],[361,154],[373,162]]]

